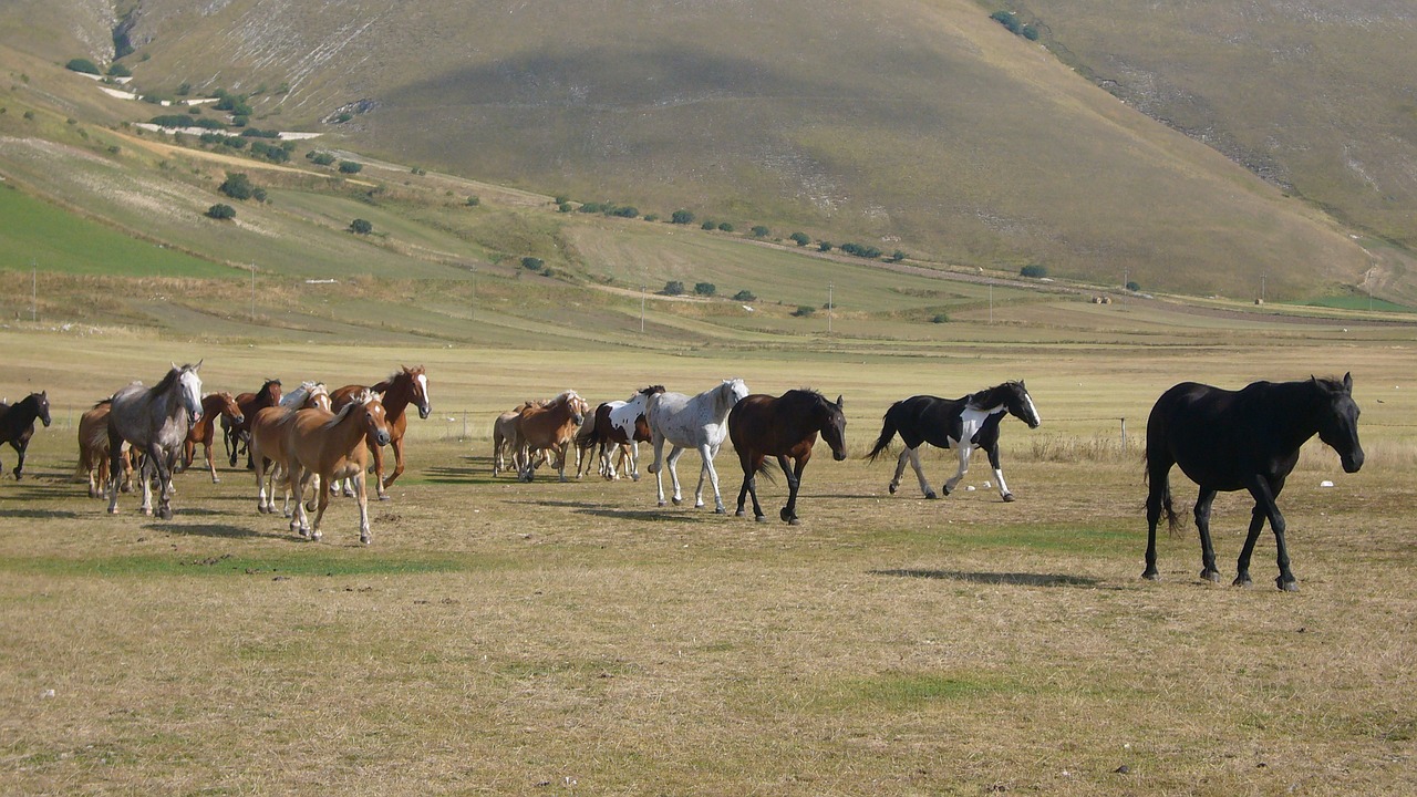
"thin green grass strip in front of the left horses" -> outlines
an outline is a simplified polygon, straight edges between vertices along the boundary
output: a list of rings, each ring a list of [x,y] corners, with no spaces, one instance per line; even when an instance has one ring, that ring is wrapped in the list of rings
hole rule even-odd
[[[483,557],[479,563],[486,564]],[[109,556],[72,559],[61,556],[3,557],[0,572],[55,577],[147,577],[147,576],[414,576],[458,573],[472,569],[458,559],[373,559],[317,552],[292,556],[237,556],[215,553]]]

